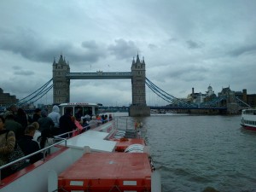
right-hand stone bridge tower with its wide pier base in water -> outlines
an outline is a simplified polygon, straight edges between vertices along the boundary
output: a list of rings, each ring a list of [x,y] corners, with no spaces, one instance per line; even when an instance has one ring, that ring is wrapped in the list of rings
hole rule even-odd
[[[146,67],[145,61],[140,61],[137,55],[136,61],[131,64],[131,94],[132,104],[130,106],[130,116],[149,116],[150,108],[146,104]]]

